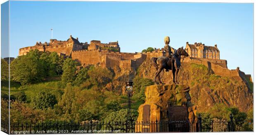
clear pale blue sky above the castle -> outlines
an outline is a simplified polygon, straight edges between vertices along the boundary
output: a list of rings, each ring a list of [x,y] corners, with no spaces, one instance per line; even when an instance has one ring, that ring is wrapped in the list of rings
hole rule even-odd
[[[10,57],[19,48],[69,35],[80,42],[119,41],[121,52],[162,48],[164,37],[178,48],[186,42],[218,44],[229,69],[253,76],[253,4],[169,2],[10,2]]]

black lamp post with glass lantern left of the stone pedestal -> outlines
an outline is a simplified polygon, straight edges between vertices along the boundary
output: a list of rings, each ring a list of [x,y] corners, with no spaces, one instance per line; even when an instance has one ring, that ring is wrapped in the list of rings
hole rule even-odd
[[[133,82],[129,81],[126,82],[126,94],[128,96],[128,105],[127,105],[127,120],[126,120],[126,126],[128,126],[128,124],[132,124],[132,113],[131,113],[131,96],[133,92]],[[127,128],[126,128],[126,132],[127,132]]]

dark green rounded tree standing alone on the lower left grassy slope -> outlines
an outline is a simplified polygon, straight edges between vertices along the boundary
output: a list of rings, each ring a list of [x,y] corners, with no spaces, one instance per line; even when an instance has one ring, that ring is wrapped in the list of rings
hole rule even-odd
[[[57,103],[56,96],[47,92],[39,92],[39,94],[32,100],[34,108],[45,109],[53,108]]]

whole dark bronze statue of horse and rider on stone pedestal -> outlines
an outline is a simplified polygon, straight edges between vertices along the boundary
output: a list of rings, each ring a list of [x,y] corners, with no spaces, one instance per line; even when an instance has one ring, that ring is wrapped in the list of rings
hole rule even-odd
[[[177,50],[174,49],[174,53],[171,51],[171,46],[169,46],[170,38],[166,36],[164,38],[165,46],[165,56],[161,57],[152,57],[151,61],[153,66],[156,67],[156,73],[154,77],[154,82],[156,84],[162,84],[160,79],[160,73],[163,69],[166,69],[166,72],[171,70],[173,72],[173,83],[178,84],[178,72],[180,69],[180,58],[182,55],[188,56],[188,53],[183,49],[183,47],[178,48]]]

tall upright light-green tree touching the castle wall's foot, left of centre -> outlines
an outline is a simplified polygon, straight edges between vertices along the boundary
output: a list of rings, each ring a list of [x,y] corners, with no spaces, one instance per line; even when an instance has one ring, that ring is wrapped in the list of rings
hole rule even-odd
[[[65,59],[63,63],[62,83],[66,85],[76,79],[76,66],[78,63],[71,58]]]

